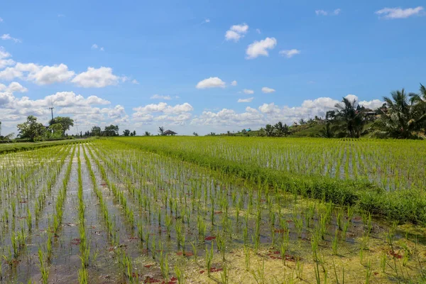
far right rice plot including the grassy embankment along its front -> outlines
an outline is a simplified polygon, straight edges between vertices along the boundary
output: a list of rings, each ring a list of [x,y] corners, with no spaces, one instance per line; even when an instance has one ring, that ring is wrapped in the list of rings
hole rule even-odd
[[[221,170],[239,178],[268,181],[271,186],[278,185],[287,192],[330,200],[335,204],[356,204],[361,209],[382,214],[389,219],[426,224],[426,192],[422,187],[425,182],[425,160],[424,156],[417,154],[425,149],[422,141],[188,137],[115,140],[144,151]],[[398,147],[403,148],[403,151]],[[382,149],[386,149],[386,152],[382,152]],[[342,154],[342,151],[351,151],[352,154]],[[405,151],[406,155],[400,154]],[[345,160],[345,156],[360,159],[358,165],[363,165],[358,167],[356,173],[364,173],[359,174],[356,180],[307,173],[307,170],[322,168],[324,163],[330,164],[326,168],[342,168],[345,165],[344,168],[352,173],[353,167]],[[283,163],[293,163],[297,167],[293,170],[288,168],[289,165],[287,168],[275,168],[272,164],[277,157]],[[395,178],[397,171],[398,178]],[[384,177],[403,186],[397,189],[374,182]]]

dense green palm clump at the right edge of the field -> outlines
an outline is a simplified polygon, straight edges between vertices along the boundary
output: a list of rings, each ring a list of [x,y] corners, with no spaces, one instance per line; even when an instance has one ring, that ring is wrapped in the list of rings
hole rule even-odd
[[[424,90],[422,86],[420,91]],[[386,109],[379,109],[380,119],[373,124],[378,129],[376,134],[392,138],[416,138],[426,123],[426,102],[423,97],[424,94],[408,95],[404,89],[391,92],[391,98],[383,97]]]

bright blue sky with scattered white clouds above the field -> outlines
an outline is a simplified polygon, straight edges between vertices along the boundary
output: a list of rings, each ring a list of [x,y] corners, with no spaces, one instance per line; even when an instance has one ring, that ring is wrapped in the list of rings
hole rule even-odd
[[[426,84],[424,1],[4,1],[2,135],[34,115],[68,133],[181,135],[324,116]]]

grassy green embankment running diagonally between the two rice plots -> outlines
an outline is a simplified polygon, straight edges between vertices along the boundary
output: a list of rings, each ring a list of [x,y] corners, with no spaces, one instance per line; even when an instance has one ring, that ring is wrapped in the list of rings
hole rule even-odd
[[[295,195],[331,201],[334,204],[356,205],[361,210],[391,220],[426,226],[426,195],[425,191],[421,189],[385,190],[371,182],[342,180],[318,175],[297,175],[283,170],[266,168],[255,163],[241,163],[214,155],[197,153],[197,151],[182,150],[173,145],[170,146],[167,140],[148,141],[144,138],[114,140],[143,151],[195,163],[253,182],[268,182],[271,187],[278,187],[286,192],[293,192]]]

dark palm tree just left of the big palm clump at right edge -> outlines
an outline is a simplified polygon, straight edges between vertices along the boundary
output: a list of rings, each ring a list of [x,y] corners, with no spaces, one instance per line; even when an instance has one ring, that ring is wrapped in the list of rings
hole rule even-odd
[[[349,137],[359,138],[364,126],[364,111],[356,103],[356,99],[350,101],[345,97],[343,104],[336,104],[336,119],[346,129]]]

